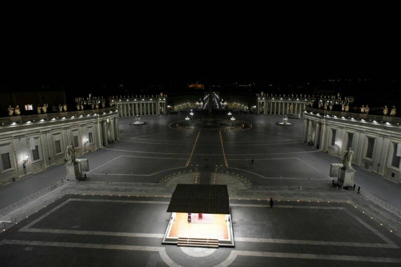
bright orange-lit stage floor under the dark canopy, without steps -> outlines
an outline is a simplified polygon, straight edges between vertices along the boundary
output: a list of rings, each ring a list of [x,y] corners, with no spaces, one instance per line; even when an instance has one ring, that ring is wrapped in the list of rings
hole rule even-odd
[[[196,213],[192,213],[194,216]],[[196,214],[197,215],[197,214]],[[169,233],[169,237],[188,237],[188,238],[218,238],[228,239],[228,227],[225,214],[204,214],[212,216],[211,223],[196,223],[187,221],[187,213],[176,213],[176,219]]]

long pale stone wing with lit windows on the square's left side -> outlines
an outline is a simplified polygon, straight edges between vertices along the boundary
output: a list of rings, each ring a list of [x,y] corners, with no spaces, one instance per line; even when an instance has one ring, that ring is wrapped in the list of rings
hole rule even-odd
[[[19,123],[9,121],[0,126],[1,184],[64,163],[69,143],[74,145],[79,157],[119,138],[118,111],[115,109],[36,117],[37,120],[32,119],[33,116],[21,116]]]

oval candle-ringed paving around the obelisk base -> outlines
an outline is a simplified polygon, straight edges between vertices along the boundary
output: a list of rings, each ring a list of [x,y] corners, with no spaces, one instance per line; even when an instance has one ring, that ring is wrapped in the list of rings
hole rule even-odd
[[[244,131],[252,128],[252,124],[246,121],[236,120],[234,122],[226,119],[195,119],[180,120],[169,124],[172,129],[188,131]]]

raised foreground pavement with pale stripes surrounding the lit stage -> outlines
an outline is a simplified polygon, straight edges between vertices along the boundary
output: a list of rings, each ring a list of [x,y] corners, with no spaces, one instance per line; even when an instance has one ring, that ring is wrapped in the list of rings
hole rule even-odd
[[[397,266],[401,238],[344,202],[232,200],[235,248],[161,245],[169,198],[65,194],[3,232],[2,266]]]

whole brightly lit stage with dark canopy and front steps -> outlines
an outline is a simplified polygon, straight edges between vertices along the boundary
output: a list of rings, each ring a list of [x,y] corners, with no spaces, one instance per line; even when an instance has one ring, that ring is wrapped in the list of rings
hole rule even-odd
[[[177,184],[163,243],[234,246],[227,185]]]

